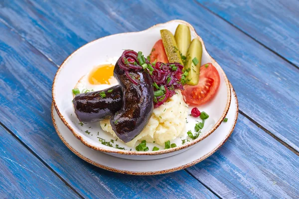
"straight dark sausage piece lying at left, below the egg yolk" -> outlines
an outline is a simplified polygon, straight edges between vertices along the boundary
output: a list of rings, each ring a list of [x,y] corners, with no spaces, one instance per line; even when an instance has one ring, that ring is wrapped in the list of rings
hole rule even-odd
[[[113,90],[108,93],[109,90]],[[102,98],[100,93],[105,92]],[[97,122],[108,119],[122,108],[123,92],[120,86],[114,86],[103,91],[78,94],[73,99],[75,113],[83,123]]]

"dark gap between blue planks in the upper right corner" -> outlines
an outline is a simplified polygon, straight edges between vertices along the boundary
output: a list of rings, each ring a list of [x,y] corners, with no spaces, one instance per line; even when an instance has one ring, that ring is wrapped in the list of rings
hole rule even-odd
[[[233,23],[231,23],[230,21],[226,20],[225,18],[221,17],[219,14],[217,14],[216,12],[210,10],[208,7],[204,6],[203,4],[201,4],[200,2],[198,2],[197,0],[193,0],[195,3],[197,3],[199,6],[201,6],[202,8],[206,9],[208,12],[211,12],[212,14],[216,15],[217,17],[221,18],[222,20],[224,20],[226,23],[230,24],[231,26],[233,26],[234,28],[236,28],[237,30],[243,32],[245,35],[247,35],[248,37],[250,37],[251,39],[253,39],[255,42],[259,43],[261,46],[263,46],[264,48],[268,49],[269,51],[271,51],[272,53],[274,53],[275,55],[277,55],[278,57],[282,58],[283,60],[285,60],[286,62],[288,62],[289,64],[291,64],[292,66],[294,66],[295,68],[299,69],[299,66],[297,66],[296,64],[294,64],[293,62],[289,61],[288,59],[286,59],[284,56],[282,56],[281,54],[279,54],[278,52],[272,50],[271,48],[269,48],[268,46],[266,46],[265,44],[263,44],[262,42],[260,42],[259,40],[257,40],[256,38],[254,38],[253,36],[251,36],[250,34],[248,34],[247,32],[243,31],[241,28],[237,27],[236,25],[234,25]],[[245,116],[245,115],[244,115]],[[298,154],[297,154],[298,155]]]

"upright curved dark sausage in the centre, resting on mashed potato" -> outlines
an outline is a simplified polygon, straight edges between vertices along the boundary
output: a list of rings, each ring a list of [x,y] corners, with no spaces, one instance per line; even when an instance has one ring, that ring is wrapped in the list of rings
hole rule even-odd
[[[130,76],[136,80],[137,85],[128,79],[117,62],[114,77],[123,92],[123,106],[111,116],[110,123],[114,132],[124,142],[130,142],[141,133],[153,110],[153,86],[149,73],[144,70],[131,71]]]

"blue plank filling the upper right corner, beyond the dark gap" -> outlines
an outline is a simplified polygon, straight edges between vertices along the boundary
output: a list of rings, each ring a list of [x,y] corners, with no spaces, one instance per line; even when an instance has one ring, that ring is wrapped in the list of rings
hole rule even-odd
[[[197,0],[299,67],[298,0]]]

